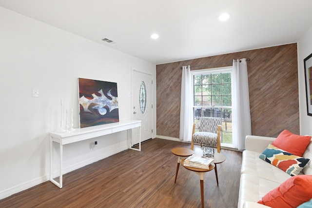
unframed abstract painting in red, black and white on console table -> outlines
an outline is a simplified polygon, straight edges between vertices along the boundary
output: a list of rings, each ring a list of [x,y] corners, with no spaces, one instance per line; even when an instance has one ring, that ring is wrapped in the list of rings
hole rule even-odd
[[[119,122],[117,83],[78,78],[80,128]]]

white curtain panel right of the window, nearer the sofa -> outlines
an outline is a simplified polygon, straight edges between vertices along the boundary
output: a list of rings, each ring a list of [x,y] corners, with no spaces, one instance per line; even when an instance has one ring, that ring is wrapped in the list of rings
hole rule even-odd
[[[252,133],[246,59],[233,60],[232,79],[233,145],[243,150],[246,135]]]

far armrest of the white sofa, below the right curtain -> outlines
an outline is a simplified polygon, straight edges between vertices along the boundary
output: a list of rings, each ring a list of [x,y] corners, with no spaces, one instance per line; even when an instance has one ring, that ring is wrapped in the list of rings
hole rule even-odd
[[[263,137],[263,136],[246,136],[246,150],[255,152],[263,152],[269,144],[273,143],[275,137]]]

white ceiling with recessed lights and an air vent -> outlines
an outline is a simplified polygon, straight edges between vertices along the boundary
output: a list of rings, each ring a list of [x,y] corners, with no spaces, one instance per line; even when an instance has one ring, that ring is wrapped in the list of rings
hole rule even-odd
[[[293,43],[312,26],[312,0],[0,0],[0,6],[155,64]],[[217,20],[223,12],[229,21]]]

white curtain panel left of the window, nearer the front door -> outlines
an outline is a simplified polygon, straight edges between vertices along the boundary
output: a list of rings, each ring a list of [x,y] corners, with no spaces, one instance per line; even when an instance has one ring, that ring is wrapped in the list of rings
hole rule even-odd
[[[191,67],[182,67],[181,110],[180,110],[180,140],[192,141],[193,99]]]

